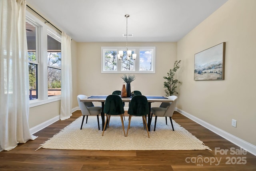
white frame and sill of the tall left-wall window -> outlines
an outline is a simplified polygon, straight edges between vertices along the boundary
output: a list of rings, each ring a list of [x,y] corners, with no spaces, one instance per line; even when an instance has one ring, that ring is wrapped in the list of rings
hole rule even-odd
[[[54,95],[48,97],[48,79],[47,79],[47,35],[54,36],[56,40],[61,43],[61,34],[55,29],[51,28],[42,21],[41,18],[35,16],[29,10],[26,10],[26,22],[37,27],[36,32],[36,60],[38,62],[38,99],[29,101],[30,107],[59,101],[61,95]],[[29,63],[30,61],[28,61]]]

